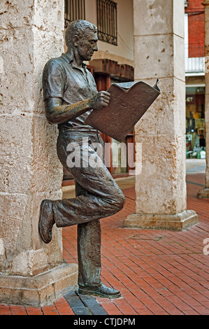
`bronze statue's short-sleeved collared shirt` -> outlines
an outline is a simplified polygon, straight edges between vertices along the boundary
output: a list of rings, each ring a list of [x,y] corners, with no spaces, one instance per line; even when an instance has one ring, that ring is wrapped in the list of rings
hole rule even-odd
[[[92,73],[82,64],[79,69],[73,64],[69,54],[50,59],[43,69],[43,97],[44,100],[50,97],[62,98],[62,104],[75,104],[89,99],[96,94],[96,83]],[[81,116],[69,120],[58,127],[86,127],[85,119],[92,110],[83,113]],[[88,126],[87,126],[88,127]]]

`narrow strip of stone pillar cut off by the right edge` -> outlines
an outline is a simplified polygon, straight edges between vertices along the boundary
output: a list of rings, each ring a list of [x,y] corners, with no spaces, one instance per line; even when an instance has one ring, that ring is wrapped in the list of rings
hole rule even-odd
[[[206,188],[203,188],[197,194],[199,198],[209,198],[209,0],[203,2],[205,6],[205,122],[206,122]]]

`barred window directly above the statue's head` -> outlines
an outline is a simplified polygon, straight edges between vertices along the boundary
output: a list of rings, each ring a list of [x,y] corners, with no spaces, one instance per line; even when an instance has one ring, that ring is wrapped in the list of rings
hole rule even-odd
[[[73,20],[85,20],[85,0],[64,1],[64,27]]]

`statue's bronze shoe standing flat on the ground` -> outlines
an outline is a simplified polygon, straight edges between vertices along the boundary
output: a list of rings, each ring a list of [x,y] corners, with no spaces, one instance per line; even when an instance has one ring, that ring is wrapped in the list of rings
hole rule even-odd
[[[103,283],[99,284],[99,286],[79,286],[78,293],[80,293],[80,295],[96,295],[105,298],[121,297],[119,290],[110,288]]]

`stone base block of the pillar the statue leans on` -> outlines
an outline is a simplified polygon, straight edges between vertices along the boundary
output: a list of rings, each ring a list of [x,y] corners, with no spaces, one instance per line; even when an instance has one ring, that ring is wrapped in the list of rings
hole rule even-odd
[[[43,307],[78,283],[78,265],[63,264],[36,276],[0,275],[0,303]]]

